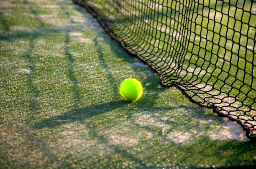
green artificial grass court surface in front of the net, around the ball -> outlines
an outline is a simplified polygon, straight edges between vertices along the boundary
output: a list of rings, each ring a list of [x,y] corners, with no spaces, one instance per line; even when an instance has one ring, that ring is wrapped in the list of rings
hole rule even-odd
[[[143,95],[122,100],[125,78]],[[256,164],[241,126],[162,88],[71,0],[0,2],[0,168]]]

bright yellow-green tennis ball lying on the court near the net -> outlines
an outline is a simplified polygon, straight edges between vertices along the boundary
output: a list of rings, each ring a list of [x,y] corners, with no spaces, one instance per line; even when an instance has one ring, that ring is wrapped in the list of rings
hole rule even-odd
[[[119,88],[119,93],[125,101],[136,101],[143,92],[141,83],[134,78],[125,79]]]

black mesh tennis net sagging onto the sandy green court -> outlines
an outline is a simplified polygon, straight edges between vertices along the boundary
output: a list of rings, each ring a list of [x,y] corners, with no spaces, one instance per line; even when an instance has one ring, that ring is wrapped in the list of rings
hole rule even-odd
[[[256,2],[73,0],[190,101],[256,139]]]

